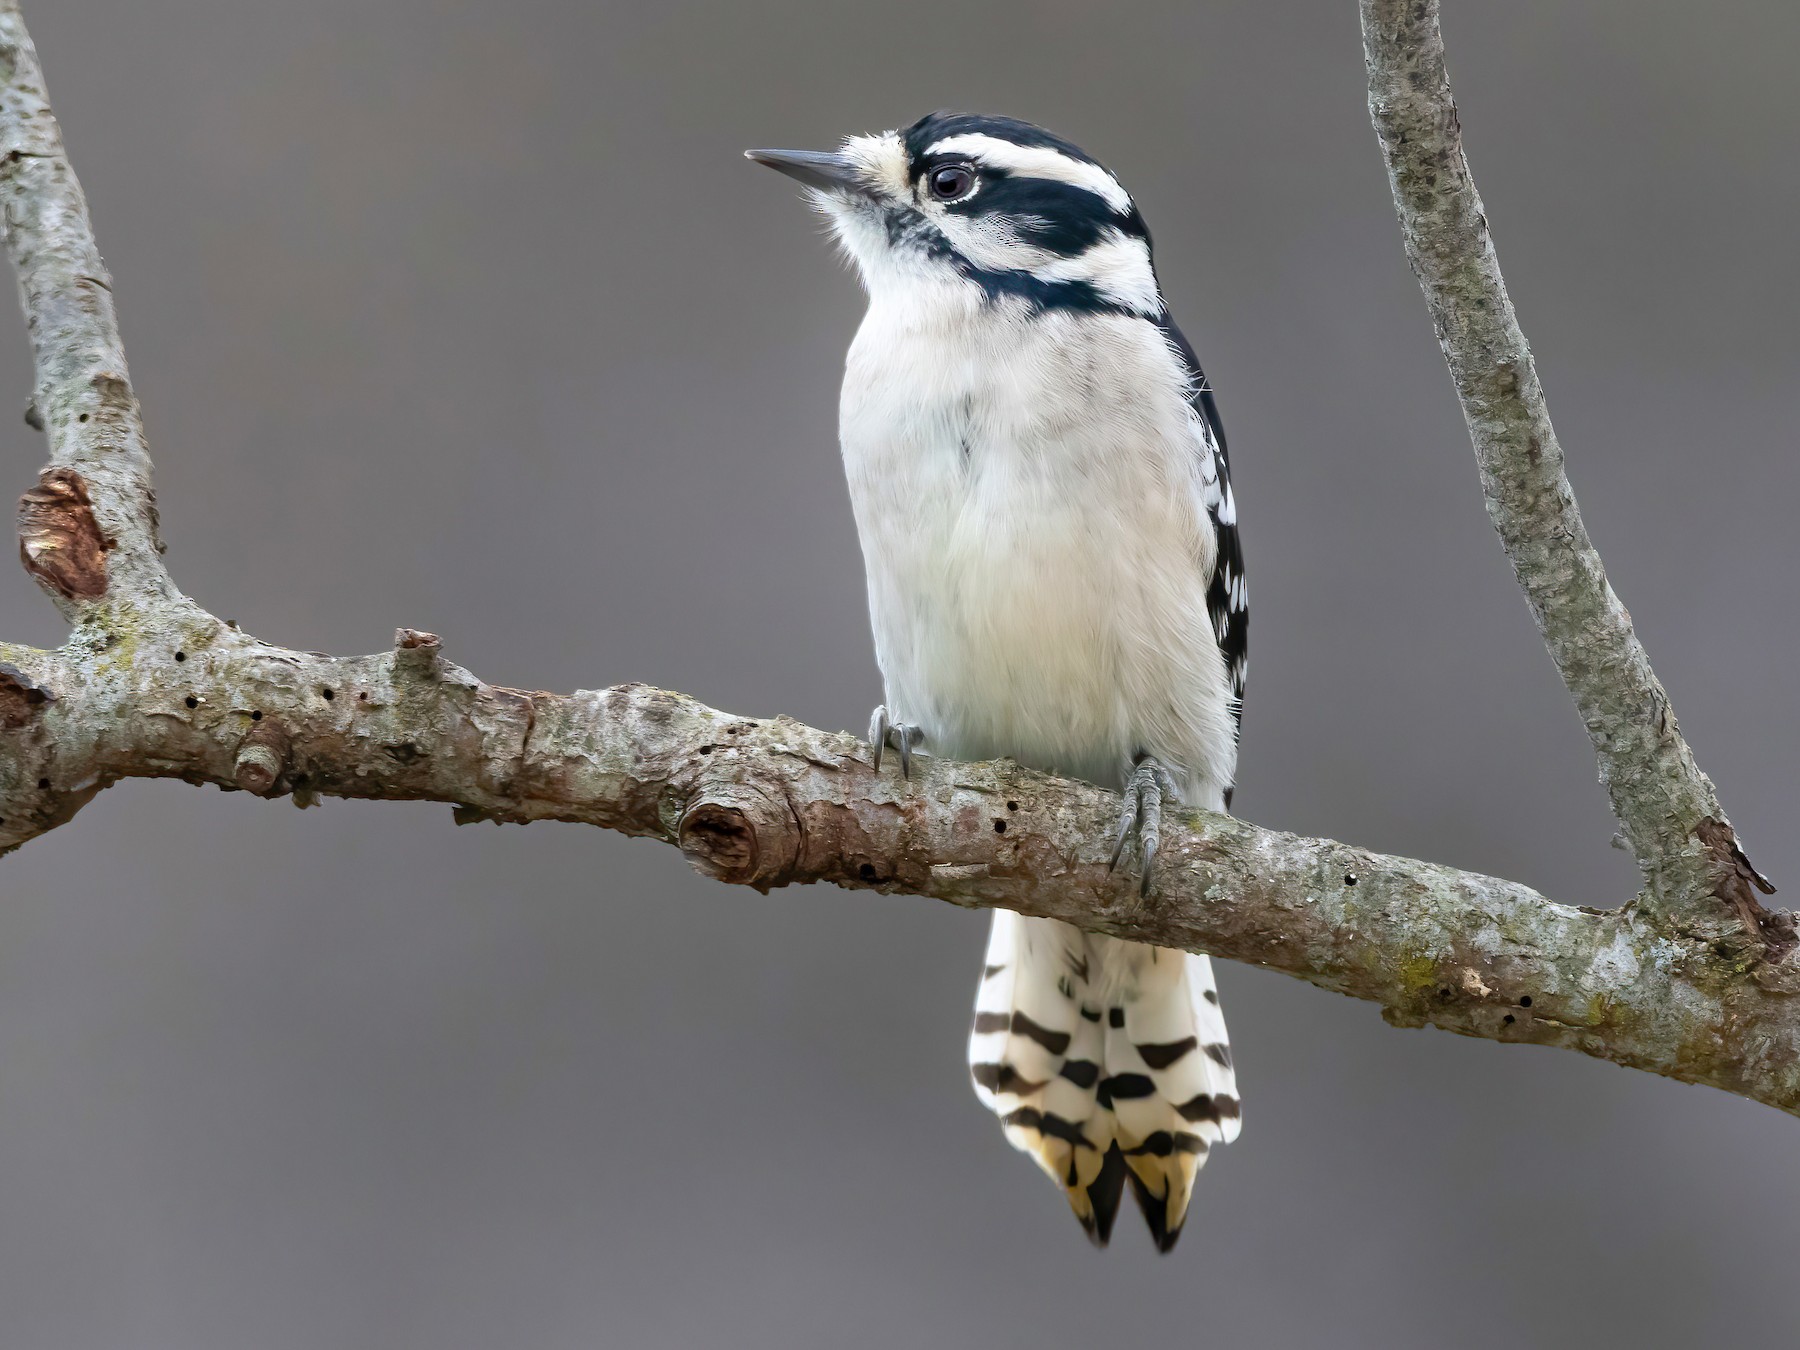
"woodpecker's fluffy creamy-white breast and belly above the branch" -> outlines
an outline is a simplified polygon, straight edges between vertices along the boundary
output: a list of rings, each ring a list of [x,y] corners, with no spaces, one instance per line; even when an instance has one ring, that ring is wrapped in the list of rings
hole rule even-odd
[[[877,295],[841,430],[886,702],[925,749],[1105,785],[1148,751],[1217,805],[1208,461],[1154,324]]]

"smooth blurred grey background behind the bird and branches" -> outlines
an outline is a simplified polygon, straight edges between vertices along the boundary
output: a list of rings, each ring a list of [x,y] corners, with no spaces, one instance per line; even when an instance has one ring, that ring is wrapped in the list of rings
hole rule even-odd
[[[1800,896],[1800,11],[1447,0],[1589,527]],[[749,144],[1042,121],[1157,234],[1256,614],[1238,806],[1631,895],[1481,513],[1352,0],[34,0],[169,562],[274,641],[864,724],[860,297]],[[0,320],[0,405],[29,392]],[[41,439],[0,419],[5,493]],[[0,567],[0,632],[61,630]],[[0,869],[5,1350],[1786,1341],[1796,1123],[1226,967],[1247,1129],[1082,1240],[976,1105],[985,920],[448,806],[103,794]]]

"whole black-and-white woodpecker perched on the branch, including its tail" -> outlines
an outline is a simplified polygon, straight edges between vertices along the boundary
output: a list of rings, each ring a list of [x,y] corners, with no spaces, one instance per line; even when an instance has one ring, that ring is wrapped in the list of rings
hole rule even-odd
[[[1249,603],[1224,428],[1143,216],[1006,117],[751,158],[806,184],[869,295],[841,439],[877,754],[895,736],[1125,790],[1148,891],[1163,797],[1229,801]],[[1204,956],[995,911],[968,1055],[1100,1244],[1130,1183],[1168,1251],[1238,1132]]]

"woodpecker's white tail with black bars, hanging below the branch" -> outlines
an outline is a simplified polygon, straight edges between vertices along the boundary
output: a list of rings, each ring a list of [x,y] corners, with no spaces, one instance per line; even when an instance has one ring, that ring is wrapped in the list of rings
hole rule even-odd
[[[1057,920],[994,911],[968,1071],[1096,1246],[1130,1181],[1174,1247],[1195,1174],[1238,1134],[1211,961]]]

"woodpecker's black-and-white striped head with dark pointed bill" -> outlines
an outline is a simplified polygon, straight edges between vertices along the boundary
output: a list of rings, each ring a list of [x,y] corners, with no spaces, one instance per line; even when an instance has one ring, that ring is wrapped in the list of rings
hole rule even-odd
[[[1033,310],[1163,313],[1130,194],[1030,122],[931,113],[835,151],[745,153],[806,185],[871,295],[936,283]]]

